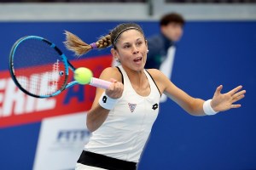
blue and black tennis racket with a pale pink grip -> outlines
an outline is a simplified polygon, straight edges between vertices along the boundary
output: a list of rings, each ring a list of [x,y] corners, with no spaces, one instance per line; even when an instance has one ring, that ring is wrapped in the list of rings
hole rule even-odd
[[[54,43],[43,37],[27,36],[15,42],[9,55],[9,71],[15,84],[25,94],[49,98],[76,84],[68,82],[69,70],[75,67]],[[95,77],[89,85],[107,89],[111,82]]]

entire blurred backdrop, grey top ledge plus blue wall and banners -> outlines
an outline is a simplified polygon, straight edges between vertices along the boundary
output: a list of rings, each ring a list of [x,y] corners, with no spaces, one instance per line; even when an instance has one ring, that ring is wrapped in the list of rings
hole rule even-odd
[[[247,94],[240,109],[216,116],[189,116],[171,99],[162,102],[138,169],[256,169],[254,0],[0,0],[0,169],[73,169],[90,138],[85,120],[95,88],[76,86],[30,105],[9,76],[16,40],[45,37],[99,77],[111,66],[110,48],[76,59],[63,46],[65,30],[96,42],[119,23],[136,22],[151,37],[171,12],[185,20],[172,82],[201,99],[220,84],[223,93],[243,85]]]

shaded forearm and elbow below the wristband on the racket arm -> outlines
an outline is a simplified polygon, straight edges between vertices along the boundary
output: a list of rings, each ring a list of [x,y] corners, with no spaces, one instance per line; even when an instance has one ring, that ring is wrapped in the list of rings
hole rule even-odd
[[[109,110],[102,108],[101,105],[96,105],[87,113],[86,126],[90,132],[96,131],[101,127],[103,122],[108,117]]]

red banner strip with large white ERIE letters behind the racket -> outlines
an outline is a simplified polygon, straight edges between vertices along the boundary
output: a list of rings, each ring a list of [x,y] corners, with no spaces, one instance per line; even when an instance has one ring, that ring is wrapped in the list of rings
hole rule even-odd
[[[102,62],[103,61],[103,62]],[[71,60],[76,68],[89,68],[94,77],[99,77],[102,70],[111,65],[110,55]],[[27,77],[27,78],[32,78]],[[70,80],[73,81],[73,72],[70,71]],[[40,85],[41,83],[38,82]],[[83,92],[84,94],[81,94]],[[40,122],[51,116],[73,114],[88,111],[92,105],[96,88],[91,86],[73,86],[61,94],[48,98],[38,99],[24,94],[16,87],[9,75],[9,71],[0,72],[0,127],[9,127],[31,122]]]

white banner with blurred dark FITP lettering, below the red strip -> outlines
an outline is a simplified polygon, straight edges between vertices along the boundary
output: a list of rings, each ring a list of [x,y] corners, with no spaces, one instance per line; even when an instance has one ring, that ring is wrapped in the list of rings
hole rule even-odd
[[[44,119],[33,170],[74,169],[90,137],[85,122],[86,112]]]

